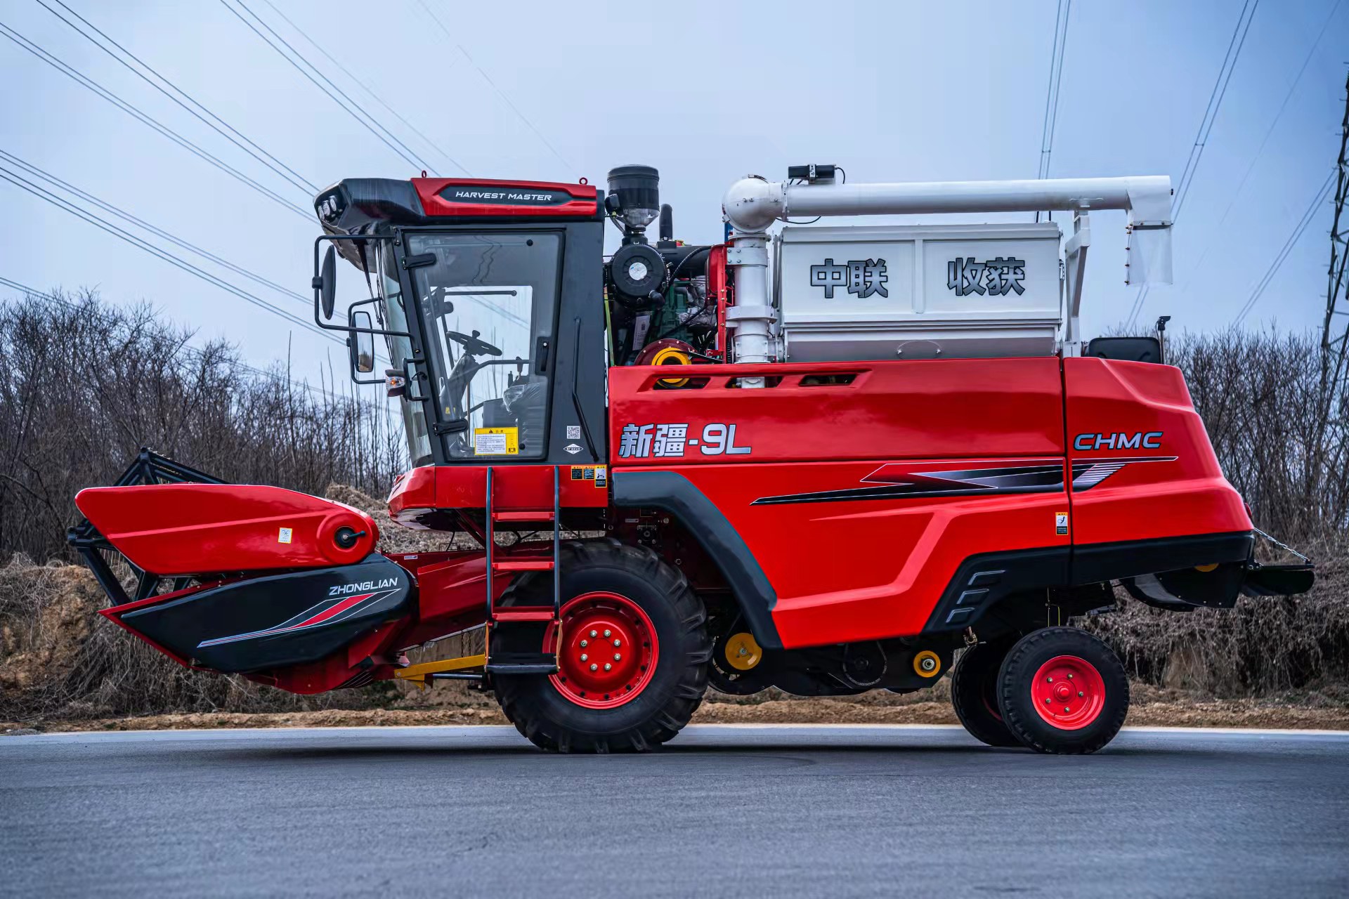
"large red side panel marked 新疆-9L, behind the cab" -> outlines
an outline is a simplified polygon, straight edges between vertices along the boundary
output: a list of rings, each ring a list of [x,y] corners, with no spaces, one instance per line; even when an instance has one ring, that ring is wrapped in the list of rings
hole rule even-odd
[[[1068,546],[1058,359],[658,373],[610,369],[615,496],[656,470],[707,496],[772,584],[784,647],[917,633],[967,555]],[[754,376],[772,385],[735,383]]]

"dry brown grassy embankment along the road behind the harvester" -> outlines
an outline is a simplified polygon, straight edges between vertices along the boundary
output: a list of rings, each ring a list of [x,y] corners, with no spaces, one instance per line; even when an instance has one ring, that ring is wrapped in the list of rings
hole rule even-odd
[[[455,538],[389,520],[344,487],[332,499],[371,511],[390,551],[447,549]],[[460,538],[464,539],[464,538]],[[1232,611],[1159,612],[1124,601],[1086,625],[1133,677],[1132,725],[1349,728],[1349,553],[1318,547],[1304,597],[1241,600]],[[0,567],[0,732],[198,726],[505,724],[464,685],[417,691],[376,683],[297,697],[243,678],[188,671],[104,621],[105,600],[81,566],[15,557]],[[480,633],[414,651],[430,660],[482,651]],[[947,682],[908,695],[799,700],[777,691],[710,694],[695,721],[954,724]]]

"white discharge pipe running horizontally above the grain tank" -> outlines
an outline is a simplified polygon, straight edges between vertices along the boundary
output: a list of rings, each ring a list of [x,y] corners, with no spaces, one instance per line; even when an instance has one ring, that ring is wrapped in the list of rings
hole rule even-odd
[[[789,216],[904,216],[915,213],[1122,209],[1129,213],[1125,283],[1171,283],[1171,178],[1052,178],[911,183],[788,185],[742,178],[722,199],[734,229],[737,361],[762,363],[776,313],[769,297],[766,232]]]

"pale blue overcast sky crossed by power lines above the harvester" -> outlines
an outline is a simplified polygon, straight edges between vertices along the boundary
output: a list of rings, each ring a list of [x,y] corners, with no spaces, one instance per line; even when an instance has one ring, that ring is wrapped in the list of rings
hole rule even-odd
[[[433,174],[584,177],[603,186],[614,166],[652,164],[662,201],[674,206],[676,236],[691,243],[720,240],[720,199],[731,182],[746,174],[781,179],[796,163],[838,163],[857,182],[1033,178],[1058,9],[1056,0],[65,3],[301,183],[407,178],[421,164],[362,127],[232,9],[275,28]],[[1072,3],[1050,177],[1168,174],[1179,182],[1241,9],[1241,0]],[[312,209],[308,187],[264,168],[36,0],[0,0],[0,23]],[[1176,216],[1175,284],[1149,290],[1140,322],[1170,314],[1171,328],[1207,332],[1233,321],[1336,162],[1346,62],[1349,1],[1257,4]],[[310,295],[316,221],[9,39],[0,39],[0,150]],[[3,156],[0,164],[16,168]],[[339,344],[4,181],[0,206],[0,276],[43,291],[97,288],[111,303],[148,302],[196,329],[198,342],[223,337],[258,367],[289,357],[291,371],[312,380],[329,360],[343,371]],[[1330,213],[1329,202],[1317,209],[1244,326],[1319,330]],[[1056,218],[1071,229],[1066,214]],[[1102,212],[1091,224],[1087,337],[1126,318],[1137,295],[1124,283],[1125,214]],[[309,301],[170,249],[294,314],[312,314]],[[0,297],[12,294],[0,287]],[[340,303],[363,294],[355,271],[345,272]]]

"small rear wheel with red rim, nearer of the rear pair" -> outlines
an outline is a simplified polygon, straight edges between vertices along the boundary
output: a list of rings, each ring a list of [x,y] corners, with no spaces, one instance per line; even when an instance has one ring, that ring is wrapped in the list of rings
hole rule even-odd
[[[1078,628],[1044,628],[1017,640],[998,671],[998,710],[1036,752],[1095,752],[1129,713],[1120,658]]]

